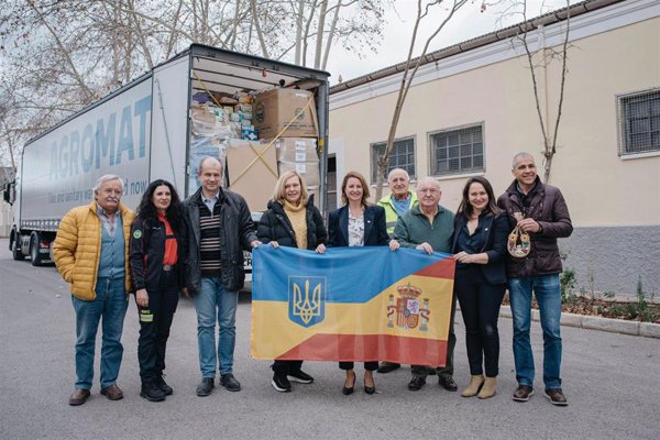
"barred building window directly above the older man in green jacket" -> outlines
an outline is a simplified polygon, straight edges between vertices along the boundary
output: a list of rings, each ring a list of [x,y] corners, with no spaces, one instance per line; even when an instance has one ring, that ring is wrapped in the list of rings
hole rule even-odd
[[[433,176],[484,169],[483,125],[443,130],[430,134]]]

